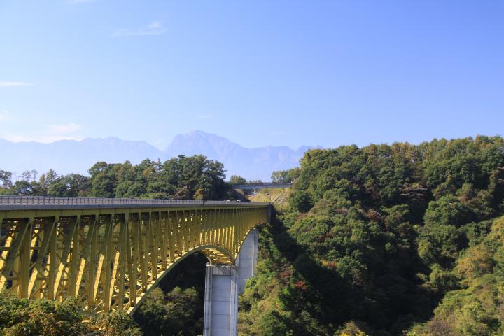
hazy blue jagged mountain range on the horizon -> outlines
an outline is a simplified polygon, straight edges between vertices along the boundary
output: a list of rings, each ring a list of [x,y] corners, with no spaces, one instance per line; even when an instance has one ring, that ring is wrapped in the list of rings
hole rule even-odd
[[[232,174],[246,179],[269,181],[272,171],[297,167],[309,146],[294,150],[287,146],[244,148],[224,137],[202,131],[179,134],[164,151],[146,141],[126,141],[116,137],[61,140],[50,144],[37,142],[10,142],[0,139],[0,169],[20,175],[36,169],[39,174],[55,169],[57,174],[87,174],[97,161],[109,163],[130,160],[138,163],[149,158],[162,161],[177,155],[203,154],[211,160],[223,162]]]

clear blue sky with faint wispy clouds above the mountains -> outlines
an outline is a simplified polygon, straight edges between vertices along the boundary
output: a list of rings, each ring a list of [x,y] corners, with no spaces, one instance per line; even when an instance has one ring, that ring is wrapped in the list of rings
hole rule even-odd
[[[503,134],[504,1],[0,1],[0,137]]]

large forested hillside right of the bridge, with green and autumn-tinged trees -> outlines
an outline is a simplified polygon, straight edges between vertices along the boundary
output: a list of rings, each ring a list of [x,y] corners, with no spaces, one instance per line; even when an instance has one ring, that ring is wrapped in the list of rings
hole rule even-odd
[[[312,150],[298,174],[241,335],[503,335],[502,138]]]

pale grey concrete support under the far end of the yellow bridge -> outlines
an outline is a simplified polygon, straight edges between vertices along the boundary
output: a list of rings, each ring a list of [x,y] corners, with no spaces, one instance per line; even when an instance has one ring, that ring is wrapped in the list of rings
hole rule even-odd
[[[259,232],[251,230],[241,246],[236,266],[207,265],[203,336],[236,336],[238,295],[255,273]]]

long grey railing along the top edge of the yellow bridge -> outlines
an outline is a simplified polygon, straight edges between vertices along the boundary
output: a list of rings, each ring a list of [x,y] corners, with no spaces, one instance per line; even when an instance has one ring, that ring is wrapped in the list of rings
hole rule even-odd
[[[202,200],[155,200],[102,197],[0,196],[0,209],[15,207],[204,207],[204,206],[257,206],[261,202],[230,202]]]

